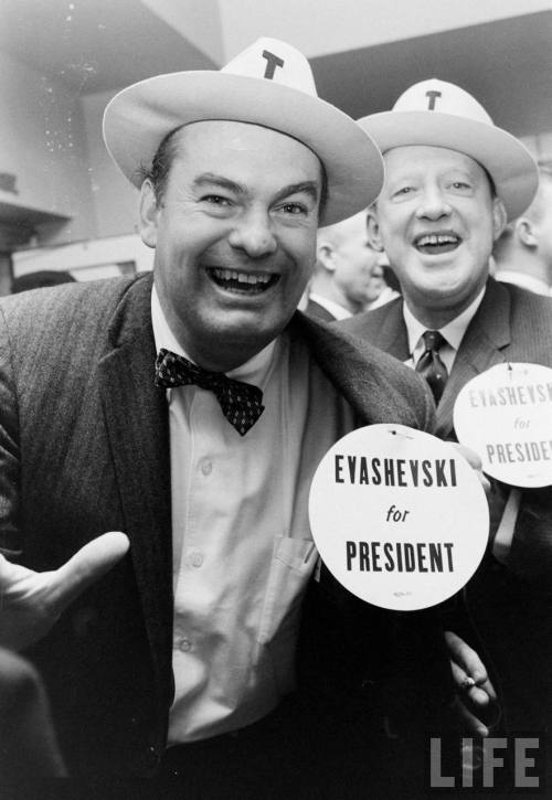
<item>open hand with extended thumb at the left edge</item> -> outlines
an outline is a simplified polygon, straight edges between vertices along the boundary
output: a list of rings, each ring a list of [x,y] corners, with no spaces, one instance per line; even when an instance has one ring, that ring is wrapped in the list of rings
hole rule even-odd
[[[123,558],[128,546],[124,533],[104,533],[47,573],[33,573],[0,556],[0,646],[22,650],[45,636],[65,608]]]

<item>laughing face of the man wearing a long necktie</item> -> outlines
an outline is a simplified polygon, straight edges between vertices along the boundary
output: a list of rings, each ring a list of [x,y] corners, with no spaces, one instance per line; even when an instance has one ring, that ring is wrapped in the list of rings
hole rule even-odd
[[[485,170],[438,147],[401,147],[385,154],[385,185],[370,220],[413,308],[460,313],[488,275],[503,226]]]

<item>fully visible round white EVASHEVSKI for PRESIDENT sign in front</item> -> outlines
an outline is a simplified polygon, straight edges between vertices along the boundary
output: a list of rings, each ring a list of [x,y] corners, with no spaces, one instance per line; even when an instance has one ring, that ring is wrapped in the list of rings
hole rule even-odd
[[[332,575],[394,610],[461,589],[489,529],[485,491],[457,448],[403,425],[370,425],[333,445],[315,473],[309,518]]]

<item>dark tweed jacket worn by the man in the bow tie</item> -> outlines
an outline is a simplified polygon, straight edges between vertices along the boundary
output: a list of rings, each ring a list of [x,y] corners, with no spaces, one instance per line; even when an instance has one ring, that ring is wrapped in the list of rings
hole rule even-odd
[[[150,291],[151,277],[140,276],[0,302],[2,547],[43,570],[105,531],[130,538],[128,556],[30,653],[73,772],[151,774],[166,744],[173,692],[169,429],[164,392],[153,385]],[[300,313],[290,330],[308,342],[359,424],[432,427],[431,399],[410,370]],[[312,583],[300,652],[314,702],[326,691],[337,706],[338,687],[350,705],[351,687],[360,696],[361,686],[375,686],[390,698],[385,712],[396,706],[407,725],[431,715],[449,691],[434,615],[373,609],[326,570]]]

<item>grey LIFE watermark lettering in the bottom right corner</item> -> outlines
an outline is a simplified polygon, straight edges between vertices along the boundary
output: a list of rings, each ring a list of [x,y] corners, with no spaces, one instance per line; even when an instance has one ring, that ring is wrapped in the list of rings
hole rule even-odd
[[[454,797],[484,792],[495,797],[546,793],[544,733],[508,736],[429,736],[426,789]]]

